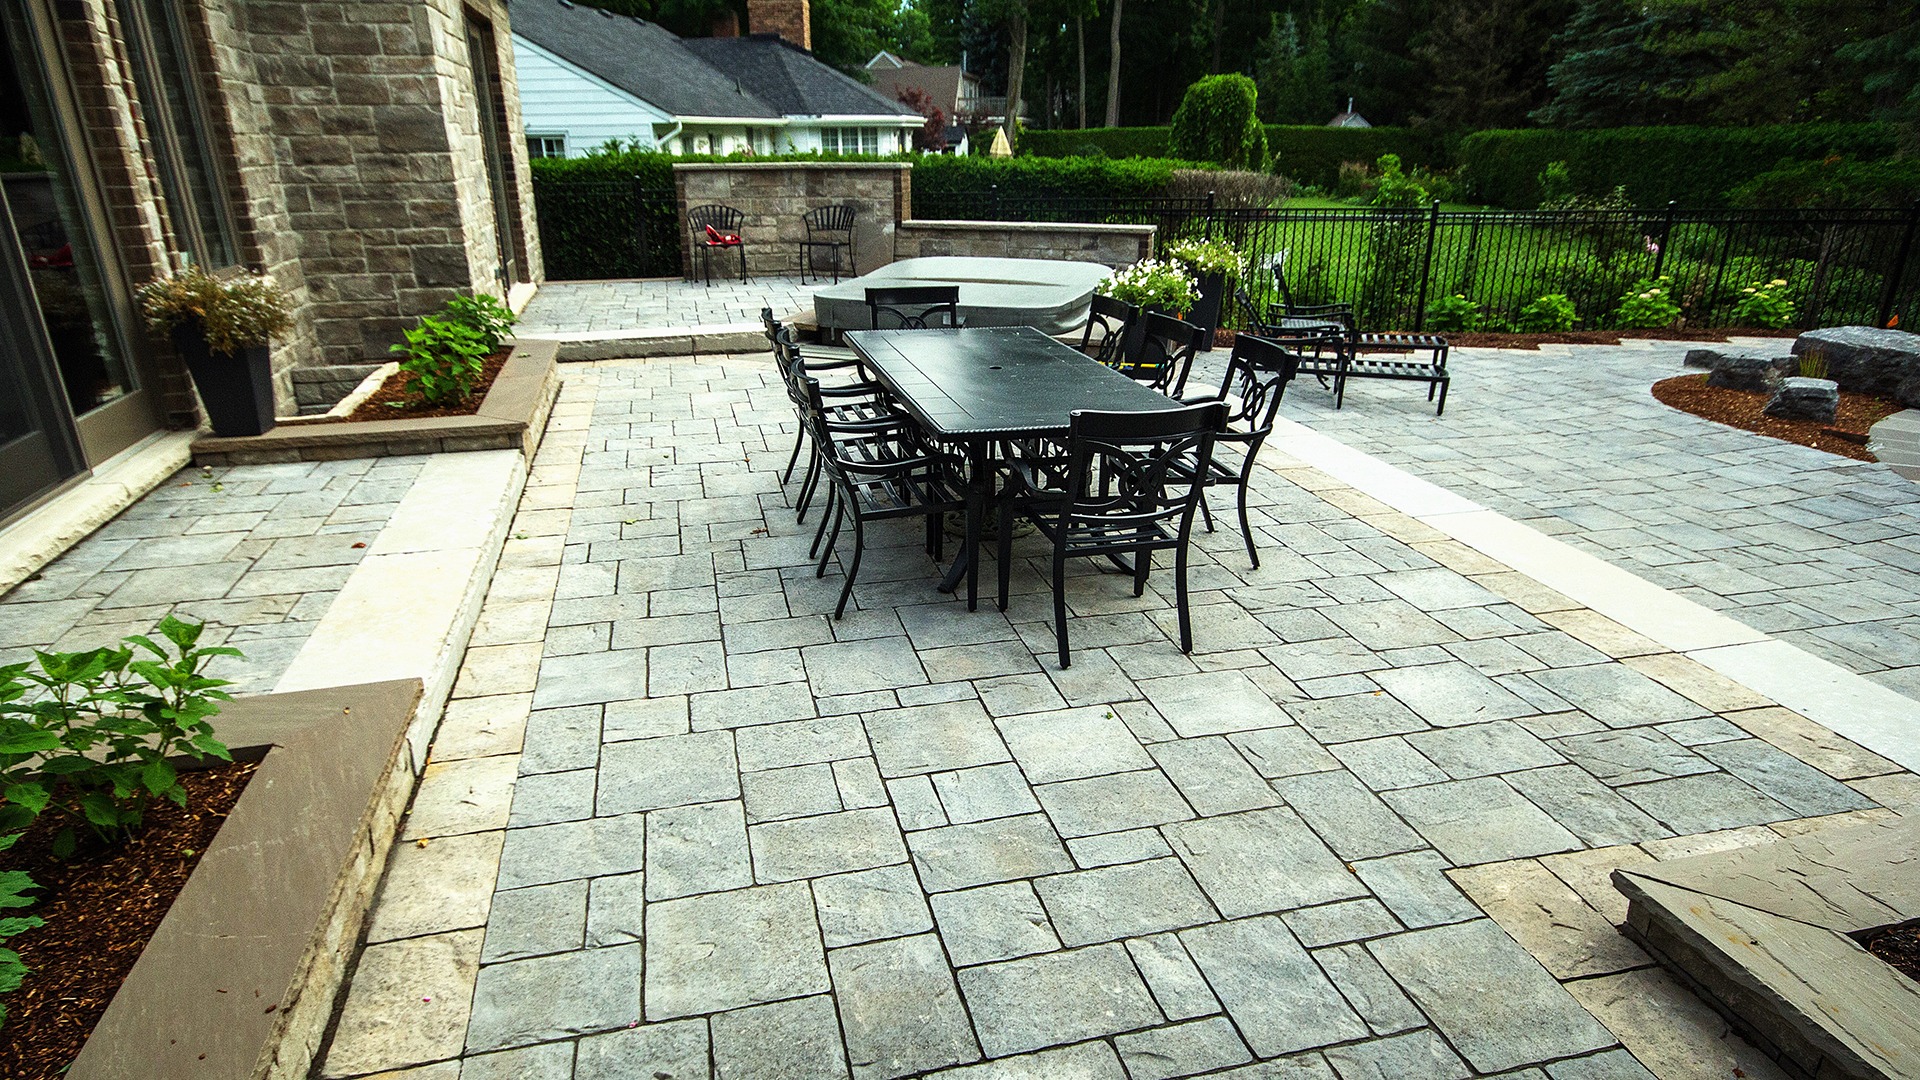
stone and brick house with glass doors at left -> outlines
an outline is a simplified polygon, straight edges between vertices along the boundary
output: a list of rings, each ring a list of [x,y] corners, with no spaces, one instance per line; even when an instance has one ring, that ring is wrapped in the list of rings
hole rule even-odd
[[[499,0],[0,8],[0,546],[200,423],[134,309],[148,281],[271,273],[294,304],[271,350],[282,415],[296,367],[378,363],[451,296],[530,292],[507,33]]]

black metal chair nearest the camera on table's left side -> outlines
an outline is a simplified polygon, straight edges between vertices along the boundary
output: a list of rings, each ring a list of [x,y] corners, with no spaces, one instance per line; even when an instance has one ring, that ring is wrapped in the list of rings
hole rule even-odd
[[[852,561],[847,563],[847,582],[833,605],[833,617],[839,619],[847,613],[847,598],[860,575],[868,521],[925,517],[927,553],[939,563],[945,557],[945,515],[964,513],[966,498],[948,482],[958,463],[924,444],[906,417],[833,423],[828,419],[820,380],[803,377],[801,386],[806,400],[801,417],[828,479],[828,509],[814,532],[812,552],[820,553],[814,577],[826,577],[841,523],[852,519]]]

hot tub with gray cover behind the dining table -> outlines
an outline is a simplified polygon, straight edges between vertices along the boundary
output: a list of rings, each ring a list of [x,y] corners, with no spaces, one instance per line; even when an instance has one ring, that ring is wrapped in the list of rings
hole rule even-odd
[[[1092,290],[1112,273],[1100,263],[927,256],[900,259],[814,294],[814,319],[829,331],[868,331],[868,288],[958,284],[968,327],[1033,327],[1069,334],[1087,323]]]

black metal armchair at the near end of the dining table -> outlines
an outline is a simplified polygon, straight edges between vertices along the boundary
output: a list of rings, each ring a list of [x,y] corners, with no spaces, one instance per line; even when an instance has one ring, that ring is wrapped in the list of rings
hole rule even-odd
[[[1073,663],[1066,600],[1069,557],[1110,559],[1133,575],[1133,594],[1140,596],[1146,592],[1154,552],[1173,550],[1181,651],[1192,651],[1187,542],[1206,490],[1194,477],[1212,467],[1213,438],[1225,417],[1227,405],[1221,402],[1158,413],[1075,411],[1068,429],[1064,486],[1050,486],[1020,459],[1008,463],[1000,494],[1000,611],[1006,611],[1010,586],[1014,517],[1021,515],[1054,542],[1054,640],[1060,644],[1060,667]],[[1125,555],[1133,557],[1131,565]]]

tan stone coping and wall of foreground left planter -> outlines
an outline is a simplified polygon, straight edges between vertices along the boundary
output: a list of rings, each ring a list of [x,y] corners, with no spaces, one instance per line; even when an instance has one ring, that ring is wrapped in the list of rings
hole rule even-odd
[[[413,794],[419,703],[407,678],[221,709],[259,767],[69,1080],[307,1076]]]

